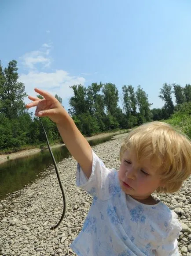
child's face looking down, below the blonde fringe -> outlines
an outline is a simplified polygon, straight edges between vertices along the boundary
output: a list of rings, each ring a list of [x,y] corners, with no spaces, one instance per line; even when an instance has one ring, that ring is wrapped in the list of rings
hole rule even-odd
[[[127,150],[118,173],[121,189],[137,201],[147,202],[148,199],[149,202],[151,194],[162,185],[157,171],[149,160],[139,162],[136,155]]]

